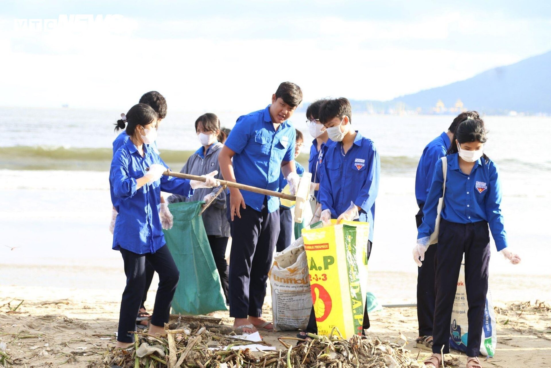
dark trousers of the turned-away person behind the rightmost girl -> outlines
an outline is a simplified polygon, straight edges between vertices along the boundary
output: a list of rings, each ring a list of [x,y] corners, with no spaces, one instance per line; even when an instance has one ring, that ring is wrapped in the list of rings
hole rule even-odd
[[[419,212],[415,215],[417,227],[423,222],[423,206],[419,205]],[[436,291],[434,287],[434,257],[436,247],[433,244],[426,248],[423,265],[417,268],[417,321],[419,323],[419,336],[430,336],[433,334],[434,303]]]

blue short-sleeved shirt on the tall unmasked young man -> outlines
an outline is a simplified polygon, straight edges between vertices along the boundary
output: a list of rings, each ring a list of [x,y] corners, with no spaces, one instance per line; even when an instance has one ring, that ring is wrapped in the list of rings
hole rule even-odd
[[[233,166],[237,183],[279,191],[283,161],[295,157],[295,128],[289,121],[274,130],[269,107],[240,116],[224,145],[235,152]],[[262,210],[266,195],[240,190],[245,204]],[[279,198],[268,197],[268,212],[279,209]]]

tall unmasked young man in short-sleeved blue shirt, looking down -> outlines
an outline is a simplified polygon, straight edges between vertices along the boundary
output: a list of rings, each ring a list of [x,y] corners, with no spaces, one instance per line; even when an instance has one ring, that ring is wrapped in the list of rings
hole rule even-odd
[[[296,191],[295,128],[287,121],[302,101],[294,83],[281,83],[266,109],[240,116],[218,161],[225,180],[279,190],[279,175]],[[232,161],[233,158],[233,161]],[[279,198],[230,188],[230,317],[245,333],[273,330],[262,318],[266,281],[279,234]]]

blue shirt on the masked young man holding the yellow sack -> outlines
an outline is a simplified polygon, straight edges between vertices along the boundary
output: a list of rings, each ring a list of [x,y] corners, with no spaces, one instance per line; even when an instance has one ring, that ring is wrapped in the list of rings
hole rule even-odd
[[[361,134],[356,134],[354,144],[345,156],[342,142],[327,147],[320,183],[321,209],[331,210],[337,218],[354,202],[361,207],[359,221],[369,222],[369,240],[373,241],[375,198],[379,193],[381,159],[374,143]]]

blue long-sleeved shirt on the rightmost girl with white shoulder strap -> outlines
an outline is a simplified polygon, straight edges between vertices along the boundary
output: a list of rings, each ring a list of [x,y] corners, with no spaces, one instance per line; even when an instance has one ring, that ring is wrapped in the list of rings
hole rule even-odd
[[[423,223],[419,226],[417,238],[430,237],[436,222],[436,207],[442,196],[442,159],[434,168],[434,177],[429,195],[423,207]],[[501,215],[501,185],[498,168],[490,159],[478,159],[471,174],[464,174],[459,168],[458,154],[447,156],[446,194],[444,208],[440,214],[446,221],[473,223],[488,221],[491,236],[498,250],[507,247],[507,235]]]

